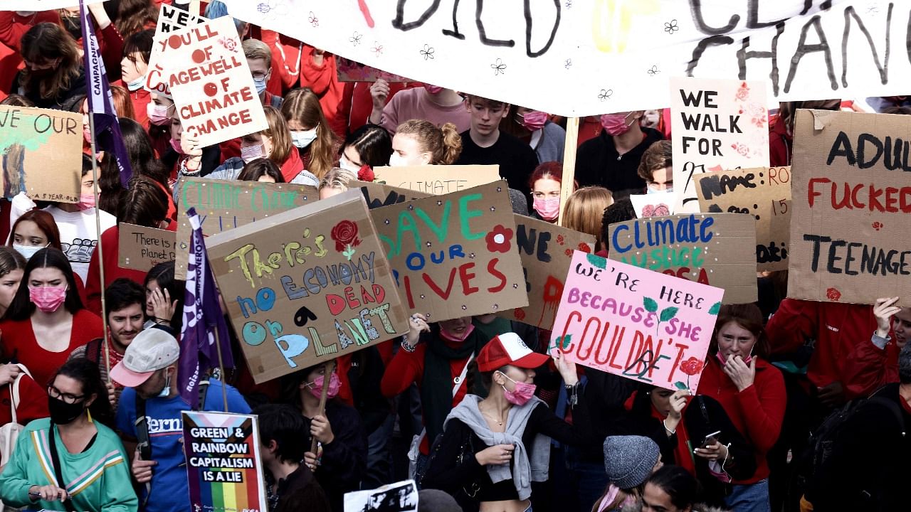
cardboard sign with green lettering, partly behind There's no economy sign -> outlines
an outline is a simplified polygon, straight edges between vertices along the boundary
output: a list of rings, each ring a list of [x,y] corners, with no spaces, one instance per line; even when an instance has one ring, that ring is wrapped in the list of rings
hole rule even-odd
[[[313,187],[236,179],[184,178],[178,183],[177,258],[174,275],[187,279],[189,225],[187,210],[196,208],[206,236],[250,224],[319,200]]]

